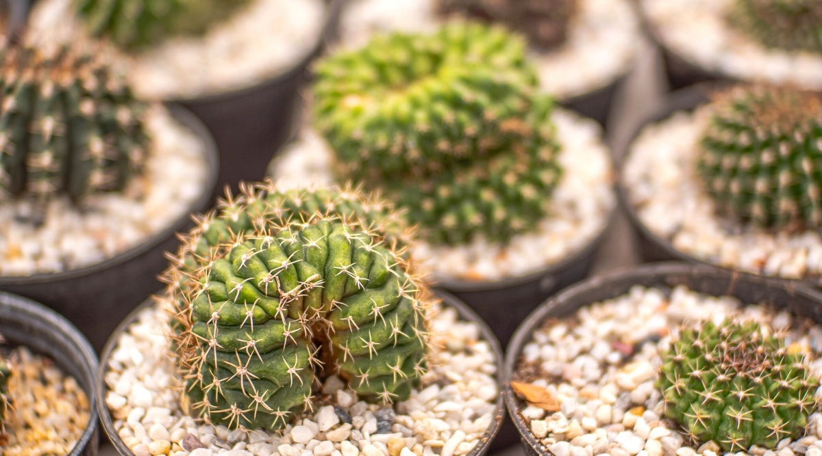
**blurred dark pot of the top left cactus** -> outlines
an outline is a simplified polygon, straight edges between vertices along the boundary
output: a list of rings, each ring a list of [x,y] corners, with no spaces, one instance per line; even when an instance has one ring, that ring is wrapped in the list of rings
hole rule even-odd
[[[343,2],[328,0],[321,36],[289,71],[247,89],[176,100],[200,117],[214,135],[220,162],[216,191],[222,192],[225,185],[236,188],[243,180],[262,180],[271,157],[297,133],[308,66],[321,54],[326,40],[333,39]]]

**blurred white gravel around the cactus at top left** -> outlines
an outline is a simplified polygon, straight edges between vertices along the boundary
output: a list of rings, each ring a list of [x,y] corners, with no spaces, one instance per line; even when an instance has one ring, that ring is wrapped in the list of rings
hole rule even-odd
[[[123,56],[141,98],[178,99],[227,93],[288,71],[321,39],[322,0],[256,0],[202,38],[169,39],[136,57]],[[41,0],[29,39],[85,40],[72,0]]]

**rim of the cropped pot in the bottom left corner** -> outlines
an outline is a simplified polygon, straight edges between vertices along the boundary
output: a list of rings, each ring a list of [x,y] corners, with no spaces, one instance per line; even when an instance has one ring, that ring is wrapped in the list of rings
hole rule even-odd
[[[99,370],[99,365],[94,349],[91,348],[91,344],[85,339],[85,336],[82,335],[80,330],[72,325],[70,321],[41,303],[5,291],[0,291],[0,303],[2,303],[3,306],[12,308],[16,313],[30,317],[33,320],[44,322],[47,326],[52,327],[56,333],[62,333],[62,335],[71,340],[74,345],[73,347],[66,347],[66,349],[77,350],[76,353],[80,355],[83,361],[83,365],[80,367],[88,373],[90,380],[93,382],[89,385],[89,390],[85,391],[86,397],[89,400],[89,420],[86,422],[85,430],[83,430],[74,448],[72,448],[72,451],[70,451],[67,456],[81,456],[85,451],[85,447],[90,445],[92,443],[91,440],[96,437],[99,423],[97,407],[99,394],[95,376]],[[25,346],[25,344],[21,345]]]

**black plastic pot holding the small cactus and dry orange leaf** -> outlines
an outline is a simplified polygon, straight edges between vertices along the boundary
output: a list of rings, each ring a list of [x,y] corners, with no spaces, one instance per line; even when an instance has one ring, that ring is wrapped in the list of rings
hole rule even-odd
[[[547,318],[569,317],[591,303],[626,294],[633,285],[655,287],[669,293],[677,285],[713,296],[727,295],[742,303],[766,303],[776,308],[788,308],[802,317],[822,322],[822,294],[798,282],[783,282],[761,276],[733,272],[718,267],[681,262],[650,264],[593,277],[557,294],[533,312],[523,322],[506,350],[506,376],[503,392],[511,420],[520,431],[529,456],[552,454],[534,438],[529,424],[520,414],[523,402],[510,388],[514,370],[525,344],[532,339],[535,328]]]

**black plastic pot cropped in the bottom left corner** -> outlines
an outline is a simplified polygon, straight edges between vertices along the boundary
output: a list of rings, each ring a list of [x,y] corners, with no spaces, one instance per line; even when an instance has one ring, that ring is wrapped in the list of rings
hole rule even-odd
[[[89,398],[89,422],[68,456],[95,456],[97,429],[97,357],[91,345],[65,318],[30,299],[0,292],[0,334],[6,346],[25,346],[51,358],[73,376]],[[500,395],[501,397],[501,395]]]

